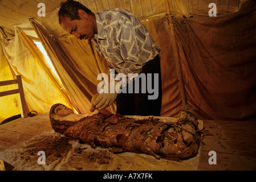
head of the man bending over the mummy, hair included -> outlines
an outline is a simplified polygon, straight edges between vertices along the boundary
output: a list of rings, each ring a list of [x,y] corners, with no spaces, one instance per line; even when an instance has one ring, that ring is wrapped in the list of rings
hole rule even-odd
[[[92,39],[97,34],[94,13],[80,2],[68,0],[60,4],[59,24],[77,39]]]

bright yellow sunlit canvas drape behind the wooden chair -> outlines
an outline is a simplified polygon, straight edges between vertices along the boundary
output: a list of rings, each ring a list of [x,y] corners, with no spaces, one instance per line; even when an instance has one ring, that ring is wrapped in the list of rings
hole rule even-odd
[[[12,39],[1,40],[2,54],[1,65],[8,61],[9,72],[7,75],[1,75],[1,81],[12,80],[10,75],[21,75],[23,89],[25,91],[25,100],[29,111],[36,110],[38,114],[46,113],[56,102],[64,102],[71,106],[63,85],[52,74],[46,60],[36,47],[36,44],[19,28],[16,28],[15,37]],[[5,72],[7,72],[5,69]],[[1,70],[2,72],[2,70]],[[10,97],[10,98],[8,98]],[[20,114],[16,99],[12,96],[1,97],[1,118],[6,119],[15,114]],[[14,96],[15,97],[15,96]],[[10,103],[15,106],[9,107]],[[13,111],[15,109],[15,111]],[[9,115],[6,115],[9,113]]]

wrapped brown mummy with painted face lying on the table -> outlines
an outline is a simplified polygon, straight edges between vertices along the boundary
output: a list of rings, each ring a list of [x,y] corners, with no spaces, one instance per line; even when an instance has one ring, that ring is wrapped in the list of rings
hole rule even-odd
[[[55,132],[114,153],[137,152],[180,161],[196,156],[200,146],[198,121],[189,109],[180,111],[177,122],[161,122],[154,117],[75,114],[65,105],[55,104],[49,117]]]

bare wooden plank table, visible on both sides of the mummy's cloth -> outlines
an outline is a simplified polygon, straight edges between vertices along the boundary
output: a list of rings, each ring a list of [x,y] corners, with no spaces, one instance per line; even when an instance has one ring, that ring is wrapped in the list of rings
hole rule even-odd
[[[256,169],[256,121],[206,120],[204,127],[198,170]],[[51,130],[48,113],[0,125],[0,151]]]

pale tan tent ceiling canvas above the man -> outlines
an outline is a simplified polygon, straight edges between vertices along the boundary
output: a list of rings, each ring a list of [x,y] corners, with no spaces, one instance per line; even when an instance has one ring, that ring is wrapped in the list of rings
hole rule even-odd
[[[32,40],[38,40],[29,19],[34,19],[54,36],[66,34],[59,26],[56,15],[59,5],[64,0],[1,0],[0,1],[0,27],[8,37],[15,35],[14,28],[21,27]],[[234,13],[238,11],[244,2],[251,0],[77,0],[88,6],[92,12],[120,7],[131,11],[139,20],[147,19],[148,16],[166,13],[168,10],[189,16],[208,15],[209,3],[216,3],[217,15]],[[44,3],[46,16],[38,16],[38,4]],[[169,4],[169,8],[166,6]],[[67,35],[67,34],[66,34]]]

